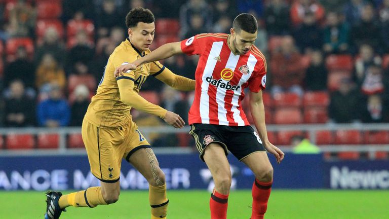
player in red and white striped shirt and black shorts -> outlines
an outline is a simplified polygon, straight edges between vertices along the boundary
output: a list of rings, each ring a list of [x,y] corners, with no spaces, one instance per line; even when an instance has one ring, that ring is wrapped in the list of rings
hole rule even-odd
[[[225,219],[231,185],[226,155],[230,151],[255,174],[251,219],[263,218],[273,182],[273,167],[266,153],[280,163],[284,153],[267,138],[262,90],[266,83],[266,60],[253,45],[257,21],[250,14],[234,20],[231,34],[203,33],[177,43],[169,43],[133,63],[122,65],[115,74],[175,54],[199,55],[195,99],[189,111],[190,134],[195,138],[200,158],[215,181],[211,194],[212,219]],[[251,128],[242,109],[244,89],[250,90],[250,110],[259,135]]]

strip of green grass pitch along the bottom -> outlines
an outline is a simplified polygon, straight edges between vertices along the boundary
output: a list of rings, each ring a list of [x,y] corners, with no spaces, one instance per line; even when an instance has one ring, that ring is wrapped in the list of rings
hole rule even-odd
[[[206,219],[210,193],[203,190],[168,191],[168,219]],[[43,192],[0,192],[0,218],[44,218]],[[251,191],[232,191],[228,219],[248,219]],[[146,191],[122,191],[115,204],[96,208],[69,207],[61,219],[148,219]],[[389,191],[273,190],[265,218],[389,218]]]

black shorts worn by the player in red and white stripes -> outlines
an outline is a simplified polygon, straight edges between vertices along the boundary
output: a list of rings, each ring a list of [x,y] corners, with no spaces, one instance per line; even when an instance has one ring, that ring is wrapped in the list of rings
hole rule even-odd
[[[228,155],[230,151],[239,161],[248,155],[266,151],[258,134],[251,126],[225,126],[195,123],[189,134],[195,138],[200,159],[204,161],[204,149],[209,143],[219,143]]]

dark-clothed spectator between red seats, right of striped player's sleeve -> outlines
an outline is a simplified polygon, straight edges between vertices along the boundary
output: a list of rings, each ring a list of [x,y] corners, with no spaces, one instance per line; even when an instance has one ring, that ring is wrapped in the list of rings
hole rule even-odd
[[[306,90],[327,90],[327,67],[323,62],[323,54],[315,50],[310,54],[310,64],[305,72],[304,84]]]

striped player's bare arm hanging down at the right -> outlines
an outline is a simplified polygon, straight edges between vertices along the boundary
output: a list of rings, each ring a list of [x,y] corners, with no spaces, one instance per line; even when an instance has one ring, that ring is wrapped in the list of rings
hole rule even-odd
[[[277,162],[280,163],[284,159],[284,153],[275,145],[270,143],[267,138],[266,124],[265,124],[265,107],[262,100],[262,90],[259,92],[250,92],[250,111],[254,119],[254,124],[259,132],[259,137],[262,140],[263,147],[269,153],[273,154]]]

